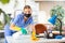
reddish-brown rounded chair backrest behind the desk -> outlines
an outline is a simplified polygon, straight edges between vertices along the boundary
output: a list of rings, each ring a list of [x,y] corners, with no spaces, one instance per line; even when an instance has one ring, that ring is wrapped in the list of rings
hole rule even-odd
[[[47,27],[43,24],[35,25],[36,34],[43,33],[47,31]]]

